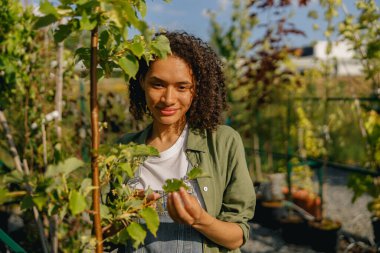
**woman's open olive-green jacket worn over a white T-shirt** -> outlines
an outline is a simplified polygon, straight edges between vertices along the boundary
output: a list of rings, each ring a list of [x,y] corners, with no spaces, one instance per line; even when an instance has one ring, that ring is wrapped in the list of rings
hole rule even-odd
[[[127,134],[120,143],[145,144],[151,128],[152,125],[139,133]],[[240,135],[228,126],[203,133],[190,129],[186,145],[191,165],[210,175],[197,179],[207,212],[219,220],[237,223],[243,230],[245,243],[256,196]],[[240,252],[240,249],[229,251],[209,240],[203,247],[204,253]]]

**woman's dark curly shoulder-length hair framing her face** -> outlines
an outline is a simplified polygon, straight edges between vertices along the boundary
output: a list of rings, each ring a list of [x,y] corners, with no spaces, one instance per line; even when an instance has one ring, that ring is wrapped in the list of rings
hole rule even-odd
[[[226,87],[222,71],[222,62],[214,50],[201,39],[186,32],[161,32],[170,42],[172,55],[183,59],[192,69],[196,81],[195,96],[189,111],[187,122],[192,129],[214,130],[222,122],[222,113],[227,109]],[[144,59],[139,62],[136,78],[130,81],[129,111],[136,120],[147,114],[144,91],[140,80],[149,70]]]

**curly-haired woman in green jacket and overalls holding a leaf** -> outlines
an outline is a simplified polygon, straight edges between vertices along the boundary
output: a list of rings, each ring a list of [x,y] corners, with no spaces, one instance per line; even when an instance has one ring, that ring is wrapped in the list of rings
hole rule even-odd
[[[130,83],[131,113],[136,119],[149,114],[153,123],[121,142],[160,152],[140,166],[136,187],[160,192],[166,179],[183,178],[193,167],[209,176],[191,181],[191,191],[181,188],[162,198],[157,237],[148,235],[136,251],[240,252],[255,193],[239,134],[220,125],[227,107],[221,62],[194,36],[163,34],[172,54],[149,65],[141,61]]]

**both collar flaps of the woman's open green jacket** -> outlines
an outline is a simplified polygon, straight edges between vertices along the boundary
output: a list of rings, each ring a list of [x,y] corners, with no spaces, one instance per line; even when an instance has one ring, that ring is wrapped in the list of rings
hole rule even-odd
[[[148,127],[146,127],[137,137],[135,142],[137,144],[145,144],[146,140],[148,139],[149,133],[152,131],[153,124],[149,124]],[[195,130],[190,128],[189,129],[189,136],[187,138],[186,143],[186,149],[187,150],[193,150],[193,151],[199,151],[199,152],[206,152],[207,151],[207,138],[205,137],[207,135],[206,131],[203,130]]]

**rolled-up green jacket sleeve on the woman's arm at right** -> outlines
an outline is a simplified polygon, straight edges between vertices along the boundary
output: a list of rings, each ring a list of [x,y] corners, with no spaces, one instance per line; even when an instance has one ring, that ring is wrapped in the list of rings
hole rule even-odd
[[[248,221],[255,211],[256,195],[248,173],[245,151],[240,135],[232,130],[227,145],[227,182],[218,219],[237,223],[243,230],[244,243],[249,238]]]

